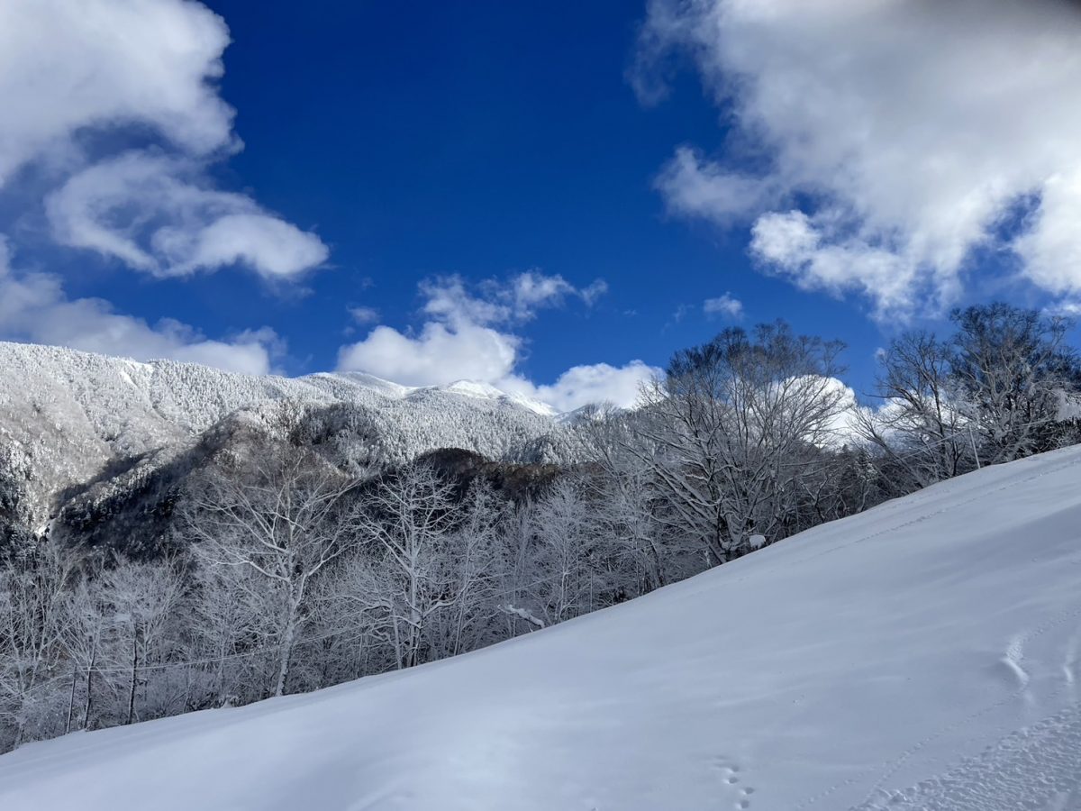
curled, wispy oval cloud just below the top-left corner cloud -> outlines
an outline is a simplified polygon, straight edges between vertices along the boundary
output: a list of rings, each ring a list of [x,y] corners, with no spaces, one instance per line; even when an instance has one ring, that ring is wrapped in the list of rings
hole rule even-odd
[[[141,151],[79,172],[45,209],[57,242],[160,277],[239,263],[281,279],[328,256],[318,237],[250,197],[206,188],[186,162]]]

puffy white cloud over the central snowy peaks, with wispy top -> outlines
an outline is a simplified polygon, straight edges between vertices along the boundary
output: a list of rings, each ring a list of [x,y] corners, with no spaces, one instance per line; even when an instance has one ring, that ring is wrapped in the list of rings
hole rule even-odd
[[[655,371],[640,361],[622,368],[575,367],[550,386],[535,386],[515,372],[524,343],[512,331],[516,325],[569,297],[591,304],[606,289],[598,281],[578,289],[560,276],[536,270],[507,282],[485,282],[477,292],[461,277],[431,279],[421,284],[422,313],[427,320],[418,332],[379,324],[363,341],[342,347],[338,369],[411,386],[477,381],[543,400],[560,411],[598,400],[629,406],[639,382]]]

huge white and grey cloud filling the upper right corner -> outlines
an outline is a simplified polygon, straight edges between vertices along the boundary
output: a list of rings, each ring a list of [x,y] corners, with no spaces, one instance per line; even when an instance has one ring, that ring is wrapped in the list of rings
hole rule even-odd
[[[731,115],[739,163],[762,169],[680,148],[658,186],[677,213],[755,221],[766,270],[882,318],[955,302],[983,249],[1081,291],[1076,3],[653,0],[643,101],[673,54]]]

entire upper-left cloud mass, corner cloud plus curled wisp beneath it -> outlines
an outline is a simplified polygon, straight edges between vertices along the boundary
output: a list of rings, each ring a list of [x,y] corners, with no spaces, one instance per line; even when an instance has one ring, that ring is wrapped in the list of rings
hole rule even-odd
[[[192,0],[3,3],[0,190],[49,165],[62,182],[46,204],[54,238],[157,276],[244,265],[283,279],[323,264],[315,234],[206,180],[240,148],[216,88],[228,43],[225,22]],[[102,154],[131,132],[155,149]],[[84,149],[86,135],[108,137]]]

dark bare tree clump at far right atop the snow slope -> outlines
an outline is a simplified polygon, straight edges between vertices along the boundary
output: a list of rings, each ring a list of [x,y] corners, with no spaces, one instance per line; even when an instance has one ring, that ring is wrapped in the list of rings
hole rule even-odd
[[[1001,303],[951,320],[947,338],[910,332],[891,343],[882,404],[860,412],[893,494],[1057,447],[1081,393],[1068,320]]]

